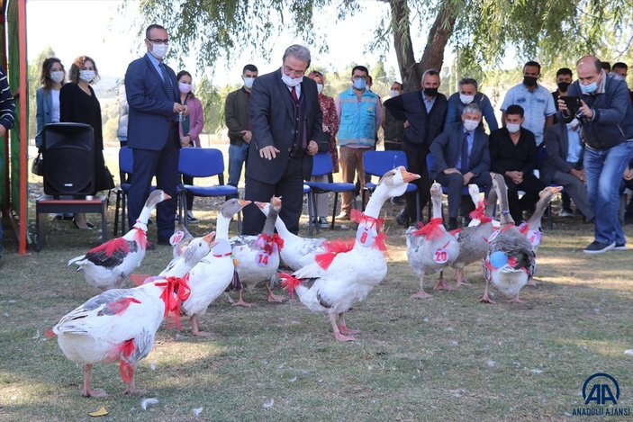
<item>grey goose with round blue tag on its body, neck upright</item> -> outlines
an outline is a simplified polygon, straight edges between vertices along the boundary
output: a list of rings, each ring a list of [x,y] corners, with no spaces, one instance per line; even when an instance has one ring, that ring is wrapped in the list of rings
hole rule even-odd
[[[511,218],[502,175],[493,175],[493,189],[500,202],[502,227],[489,239],[490,247],[484,258],[485,292],[480,301],[493,303],[488,294],[492,283],[504,296],[511,297],[512,302],[521,302],[519,293],[534,275],[536,256],[532,245]]]

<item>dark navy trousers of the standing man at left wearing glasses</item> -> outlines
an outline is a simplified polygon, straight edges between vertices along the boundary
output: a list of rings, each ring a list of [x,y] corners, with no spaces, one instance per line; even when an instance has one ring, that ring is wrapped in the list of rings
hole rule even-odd
[[[158,151],[132,148],[134,170],[131,175],[128,193],[128,221],[130,227],[136,223],[140,211],[149,196],[151,179],[156,175],[158,189],[162,189],[171,199],[158,203],[156,207],[156,227],[158,241],[167,241],[174,234],[174,216],[176,215],[176,186],[180,180],[178,159],[180,143],[177,126],[169,128],[169,139],[165,147]]]

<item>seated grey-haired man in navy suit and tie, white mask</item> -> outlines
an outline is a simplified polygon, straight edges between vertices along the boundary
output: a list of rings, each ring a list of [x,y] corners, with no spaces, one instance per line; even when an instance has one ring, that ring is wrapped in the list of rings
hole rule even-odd
[[[448,229],[457,229],[457,213],[462,203],[462,188],[476,184],[487,194],[490,177],[488,135],[479,126],[482,110],[475,103],[464,107],[462,122],[448,125],[430,144],[434,166],[430,177],[448,187]]]

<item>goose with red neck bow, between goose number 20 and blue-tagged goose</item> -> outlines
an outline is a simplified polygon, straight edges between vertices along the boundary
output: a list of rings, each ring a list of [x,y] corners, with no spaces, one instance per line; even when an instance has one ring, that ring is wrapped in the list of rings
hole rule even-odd
[[[479,199],[479,187],[476,184],[468,185],[468,193],[477,204],[475,211],[470,213],[470,224],[461,229],[457,234],[459,244],[459,256],[451,267],[455,269],[455,281],[457,286],[468,285],[464,268],[475,261],[484,259],[488,251],[488,238],[493,234],[493,210],[497,201],[497,194],[493,191],[488,194],[488,202]],[[485,212],[484,212],[485,207]]]

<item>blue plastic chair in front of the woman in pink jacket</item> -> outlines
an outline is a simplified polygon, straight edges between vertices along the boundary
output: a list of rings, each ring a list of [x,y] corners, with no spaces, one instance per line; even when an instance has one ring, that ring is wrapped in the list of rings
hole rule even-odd
[[[176,187],[178,196],[178,216],[185,222],[186,193],[203,198],[214,196],[228,196],[238,194],[238,188],[230,184],[224,184],[224,157],[222,151],[216,148],[183,148],[180,150],[178,172],[192,177],[218,176],[220,184],[214,186],[196,186],[194,184],[179,184]],[[241,232],[241,215],[238,213],[238,226]]]

